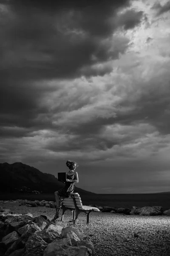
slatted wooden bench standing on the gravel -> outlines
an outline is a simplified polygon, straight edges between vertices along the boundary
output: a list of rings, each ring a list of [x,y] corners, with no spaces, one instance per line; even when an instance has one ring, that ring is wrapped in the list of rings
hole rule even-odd
[[[62,217],[61,220],[64,221],[64,213],[66,210],[71,210],[72,212],[72,218],[73,218],[73,223],[76,224],[78,215],[80,212],[85,212],[87,216],[87,224],[89,223],[89,215],[91,212],[99,212],[100,210],[96,207],[90,207],[90,206],[85,206],[82,205],[82,200],[79,196],[78,193],[71,193],[69,198],[65,198],[62,201]],[[76,212],[76,216],[74,218],[74,212]]]

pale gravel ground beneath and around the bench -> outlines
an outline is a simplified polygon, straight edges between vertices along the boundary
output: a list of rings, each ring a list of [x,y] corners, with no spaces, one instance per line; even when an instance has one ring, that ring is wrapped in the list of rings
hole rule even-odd
[[[15,213],[30,212],[33,217],[43,214],[50,220],[55,215],[55,209],[46,207],[19,207],[16,203],[0,206]],[[68,210],[65,221],[70,219],[71,212]],[[89,220],[87,225],[86,216],[81,213],[76,227],[94,244],[95,256],[170,256],[170,216],[91,212]],[[72,224],[68,222],[68,225]]]

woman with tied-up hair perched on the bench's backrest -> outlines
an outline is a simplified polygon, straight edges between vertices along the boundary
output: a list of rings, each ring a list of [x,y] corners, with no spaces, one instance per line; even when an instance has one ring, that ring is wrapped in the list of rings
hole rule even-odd
[[[66,166],[69,168],[69,171],[67,173],[65,187],[54,192],[56,201],[56,215],[54,216],[54,220],[59,218],[59,210],[61,209],[62,200],[68,198],[69,195],[74,192],[74,184],[79,182],[78,174],[75,172],[78,164],[74,161],[67,160]]]

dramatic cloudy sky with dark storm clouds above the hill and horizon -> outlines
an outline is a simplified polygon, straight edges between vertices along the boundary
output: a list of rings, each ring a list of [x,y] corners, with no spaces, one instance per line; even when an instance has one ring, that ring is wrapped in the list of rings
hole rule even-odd
[[[169,191],[170,1],[96,2],[0,1],[0,163]]]

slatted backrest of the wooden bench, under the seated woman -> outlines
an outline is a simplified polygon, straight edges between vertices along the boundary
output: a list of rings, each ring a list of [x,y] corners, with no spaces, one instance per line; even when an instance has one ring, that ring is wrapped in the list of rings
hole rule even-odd
[[[62,204],[65,207],[70,207],[70,208],[78,207],[79,209],[82,209],[82,200],[81,200],[81,197],[79,196],[79,193],[71,193],[71,197],[65,198],[62,201]]]

